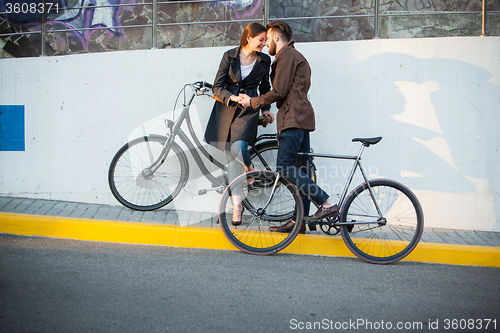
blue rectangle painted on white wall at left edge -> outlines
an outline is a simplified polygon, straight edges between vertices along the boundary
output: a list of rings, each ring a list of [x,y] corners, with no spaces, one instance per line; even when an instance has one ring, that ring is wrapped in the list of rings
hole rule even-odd
[[[0,105],[0,151],[25,151],[24,105]]]

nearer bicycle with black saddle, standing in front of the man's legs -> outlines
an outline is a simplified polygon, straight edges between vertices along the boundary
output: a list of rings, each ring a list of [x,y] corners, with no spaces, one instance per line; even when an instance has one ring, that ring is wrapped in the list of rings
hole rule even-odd
[[[349,250],[357,257],[377,264],[394,263],[405,258],[417,246],[424,228],[422,207],[406,186],[389,179],[369,180],[361,165],[366,147],[382,138],[355,138],[361,149],[355,156],[303,154],[314,158],[353,160],[347,183],[340,196],[340,213],[313,221],[329,235],[341,233]],[[356,171],[364,182],[348,193]],[[248,179],[254,179],[247,185]],[[231,224],[233,193],[242,195],[246,209],[239,226]],[[299,233],[303,218],[299,192],[286,178],[273,171],[252,171],[236,178],[225,189],[219,221],[229,241],[238,249],[251,254],[271,254],[290,245]],[[269,227],[294,220],[290,233],[270,232]],[[311,226],[311,222],[309,223]]]

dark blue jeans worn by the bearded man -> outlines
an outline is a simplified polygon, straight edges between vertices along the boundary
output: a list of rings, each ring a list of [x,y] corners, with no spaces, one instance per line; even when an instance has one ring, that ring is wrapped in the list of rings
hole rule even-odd
[[[297,156],[297,153],[308,153],[311,149],[309,131],[299,128],[289,128],[278,134],[278,159],[276,171],[282,174],[300,192],[304,204],[304,215],[309,215],[311,202],[309,197],[318,205],[328,199],[328,194],[311,179],[310,157]]]

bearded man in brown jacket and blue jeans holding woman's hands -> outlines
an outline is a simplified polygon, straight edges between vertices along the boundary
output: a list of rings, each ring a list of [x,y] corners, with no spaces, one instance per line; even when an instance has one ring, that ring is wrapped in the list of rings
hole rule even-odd
[[[278,158],[276,171],[294,183],[301,193],[307,193],[321,207],[305,221],[322,220],[339,212],[339,208],[316,183],[310,178],[309,159],[302,157],[297,163],[297,153],[310,151],[309,132],[315,129],[314,110],[307,98],[311,86],[311,68],[304,56],[295,49],[292,29],[282,21],[269,23],[267,42],[269,55],[276,56],[271,66],[273,89],[264,95],[250,98],[240,95],[239,102],[255,110],[276,102],[278,130]],[[274,119],[273,119],[274,120]],[[300,167],[297,167],[297,165]],[[305,214],[309,214],[310,202],[302,195]],[[290,232],[295,222],[290,221],[281,227],[271,227],[271,231]],[[305,233],[301,225],[300,233]]]

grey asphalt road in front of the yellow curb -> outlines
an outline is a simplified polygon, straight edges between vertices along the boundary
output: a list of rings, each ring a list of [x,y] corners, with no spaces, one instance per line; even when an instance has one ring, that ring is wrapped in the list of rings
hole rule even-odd
[[[0,235],[0,332],[500,332],[499,282],[498,268]]]

